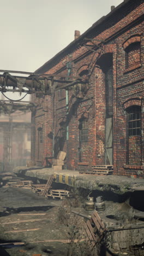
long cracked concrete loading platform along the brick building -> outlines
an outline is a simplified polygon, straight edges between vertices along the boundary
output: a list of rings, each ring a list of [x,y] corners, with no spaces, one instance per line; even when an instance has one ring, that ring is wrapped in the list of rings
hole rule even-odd
[[[74,186],[76,188],[84,188],[89,190],[100,191],[113,191],[117,194],[123,194],[128,191],[144,190],[144,179],[128,178],[125,176],[116,175],[94,175],[94,174],[80,174],[78,171],[61,170],[54,171],[52,168],[40,168],[40,167],[25,167],[20,166],[14,169],[14,173],[25,177],[33,177],[38,179],[47,180],[51,174],[57,174],[58,176],[73,177]],[[72,184],[60,182],[63,184]]]

